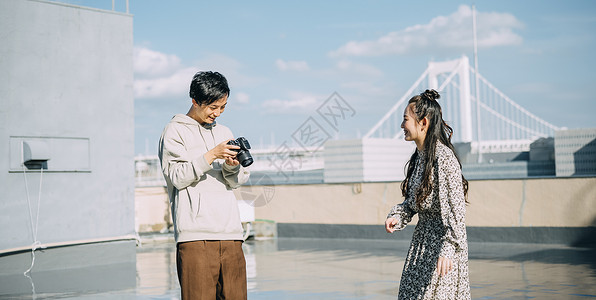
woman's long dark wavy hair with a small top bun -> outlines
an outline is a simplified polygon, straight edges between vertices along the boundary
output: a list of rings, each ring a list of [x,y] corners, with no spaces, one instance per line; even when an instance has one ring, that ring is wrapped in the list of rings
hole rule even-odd
[[[431,182],[431,174],[433,172],[434,166],[437,164],[437,155],[436,155],[436,146],[437,142],[442,143],[443,145],[449,147],[455,157],[459,166],[461,168],[461,162],[455,153],[455,148],[451,144],[451,136],[453,135],[453,129],[447,125],[447,123],[443,120],[443,112],[441,111],[441,106],[437,99],[441,96],[435,90],[426,90],[424,93],[420,95],[414,96],[408,101],[408,105],[414,103],[414,114],[416,115],[416,121],[420,122],[425,117],[428,119],[428,130],[426,132],[426,137],[424,139],[424,153],[426,153],[426,163],[424,165],[424,170],[422,173],[422,183],[420,184],[420,188],[416,191],[416,204],[418,207],[421,206],[422,201],[430,195],[432,191]],[[414,167],[416,165],[416,160],[418,159],[418,151],[414,151],[412,157],[406,164],[406,179],[401,183],[401,192],[402,195],[405,197],[406,192],[408,189],[408,185],[412,178],[412,174],[414,173]],[[462,184],[464,187],[464,196],[468,194],[468,181],[462,175]],[[466,197],[467,198],[467,197]],[[467,199],[466,199],[467,202]]]

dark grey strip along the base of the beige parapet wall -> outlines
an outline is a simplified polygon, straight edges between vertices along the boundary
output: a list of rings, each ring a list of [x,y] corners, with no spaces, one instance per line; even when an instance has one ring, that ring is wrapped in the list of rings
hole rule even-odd
[[[416,225],[388,234],[383,225],[278,223],[278,237],[410,240]],[[469,242],[596,246],[596,227],[468,227]]]

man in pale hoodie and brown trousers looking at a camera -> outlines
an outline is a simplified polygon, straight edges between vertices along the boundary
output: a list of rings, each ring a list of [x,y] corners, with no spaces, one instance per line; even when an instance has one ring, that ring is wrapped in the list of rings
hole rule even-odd
[[[182,299],[246,299],[242,224],[232,189],[248,180],[228,145],[232,132],[216,124],[230,89],[217,72],[198,72],[192,106],[175,115],[159,141],[176,238]]]

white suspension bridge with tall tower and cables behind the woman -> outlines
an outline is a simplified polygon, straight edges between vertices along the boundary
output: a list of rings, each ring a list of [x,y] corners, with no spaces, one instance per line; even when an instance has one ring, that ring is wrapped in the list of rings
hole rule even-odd
[[[443,118],[453,128],[453,142],[471,143],[473,151],[501,152],[552,137],[560,128],[532,114],[476,74],[469,59],[429,62],[428,67],[364,138],[403,138],[401,122],[408,100],[427,88],[441,94]]]

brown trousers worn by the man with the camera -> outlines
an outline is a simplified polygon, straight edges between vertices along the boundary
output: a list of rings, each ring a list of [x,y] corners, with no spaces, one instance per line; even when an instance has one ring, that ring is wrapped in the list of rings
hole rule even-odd
[[[178,243],[176,266],[182,300],[245,300],[242,241]]]

